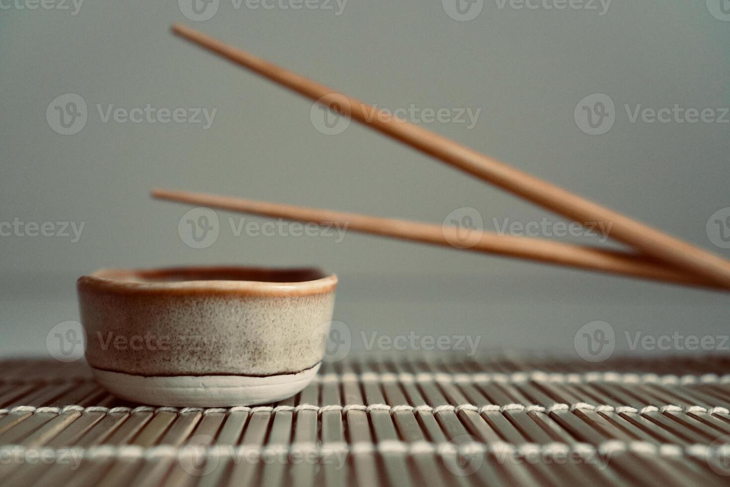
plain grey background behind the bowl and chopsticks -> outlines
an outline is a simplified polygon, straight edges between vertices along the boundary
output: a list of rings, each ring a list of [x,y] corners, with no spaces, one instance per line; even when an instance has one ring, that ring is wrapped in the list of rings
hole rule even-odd
[[[601,7],[599,7],[600,9]],[[326,136],[310,101],[172,36],[183,22],[380,107],[481,108],[474,129],[439,134],[730,257],[705,230],[730,206],[730,124],[631,123],[624,104],[729,107],[730,22],[704,1],[615,0],[585,9],[500,9],[466,22],[440,1],[350,0],[333,10],[234,9],[185,18],[175,1],[107,1],[69,10],[0,11],[0,221],[85,222],[79,242],[0,237],[0,354],[46,353],[47,331],[78,318],[74,280],[103,266],[318,264],[341,280],[335,318],[353,332],[482,335],[480,348],[576,356],[585,323],[624,331],[727,334],[722,294],[606,277],[348,233],[220,237],[189,248],[190,207],[155,202],[155,186],[441,223],[475,207],[493,218],[559,218],[353,124]],[[45,112],[78,93],[88,123],[55,133]],[[615,125],[574,120],[607,93]],[[106,107],[209,107],[188,123],[102,123]],[[247,218],[249,219],[249,218]],[[253,221],[263,222],[258,218]],[[567,239],[564,239],[567,240]],[[593,243],[595,239],[577,241]],[[679,352],[681,350],[674,350]]]

